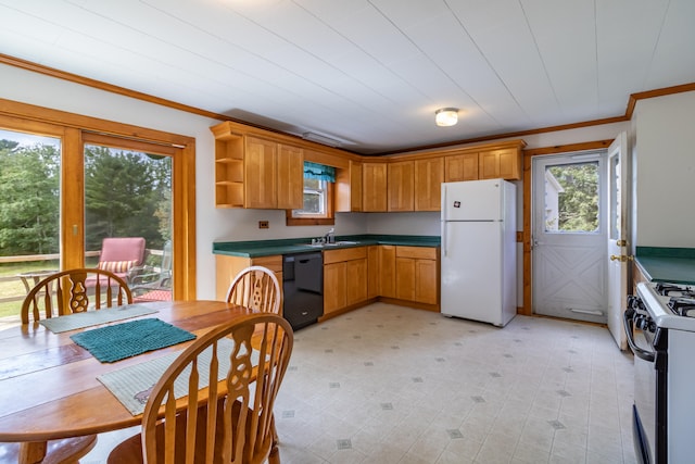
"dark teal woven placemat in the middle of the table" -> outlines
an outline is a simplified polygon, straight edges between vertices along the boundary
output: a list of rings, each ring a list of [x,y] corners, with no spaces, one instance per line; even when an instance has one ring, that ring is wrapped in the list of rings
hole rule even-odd
[[[149,318],[86,330],[70,338],[102,363],[113,363],[192,340],[195,336],[163,321]]]

